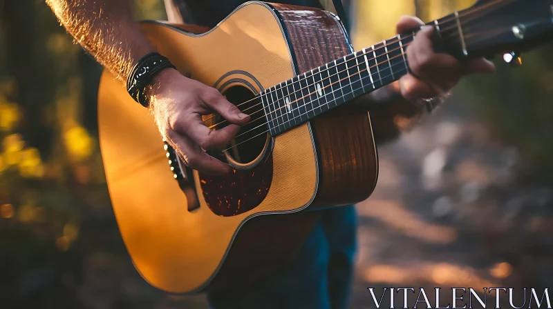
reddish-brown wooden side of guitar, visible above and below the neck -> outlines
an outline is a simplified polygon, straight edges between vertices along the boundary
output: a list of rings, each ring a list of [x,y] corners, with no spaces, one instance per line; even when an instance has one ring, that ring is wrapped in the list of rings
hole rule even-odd
[[[333,14],[299,6],[271,5],[281,14],[299,72],[351,52],[344,28]],[[368,112],[350,104],[310,122],[319,161],[319,187],[310,208],[367,199],[378,177],[377,150]]]

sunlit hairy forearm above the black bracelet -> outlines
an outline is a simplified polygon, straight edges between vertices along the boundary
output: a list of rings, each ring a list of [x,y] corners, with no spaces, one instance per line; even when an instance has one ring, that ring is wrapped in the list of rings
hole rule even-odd
[[[46,3],[75,41],[122,82],[141,57],[154,51],[133,19],[129,0]]]

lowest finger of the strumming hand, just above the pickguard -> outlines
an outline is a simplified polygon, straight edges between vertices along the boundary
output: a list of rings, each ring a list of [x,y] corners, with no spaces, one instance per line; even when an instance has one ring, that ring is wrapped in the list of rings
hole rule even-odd
[[[203,152],[200,147],[188,137],[173,133],[170,139],[174,144],[175,150],[182,158],[182,161],[184,161],[189,168],[210,175],[225,175],[232,170],[231,166],[228,164],[207,155],[207,153]]]

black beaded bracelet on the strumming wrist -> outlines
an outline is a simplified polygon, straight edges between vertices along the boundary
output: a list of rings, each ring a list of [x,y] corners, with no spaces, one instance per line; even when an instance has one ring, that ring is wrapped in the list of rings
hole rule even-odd
[[[175,68],[171,61],[166,57],[151,52],[142,57],[135,64],[131,74],[126,79],[126,91],[131,97],[145,108],[149,107],[149,99],[146,95],[146,89],[150,86],[151,80],[162,70],[166,68]]]

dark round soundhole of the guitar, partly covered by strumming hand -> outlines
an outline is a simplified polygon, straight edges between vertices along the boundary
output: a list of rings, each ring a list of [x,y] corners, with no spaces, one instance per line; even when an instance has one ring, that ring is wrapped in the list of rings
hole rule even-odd
[[[250,123],[242,126],[227,146],[225,156],[234,168],[245,169],[256,165],[270,145],[261,99],[245,86],[232,86],[223,92],[228,101],[250,115]],[[223,121],[217,117],[217,123]],[[223,126],[221,126],[223,128]]]

